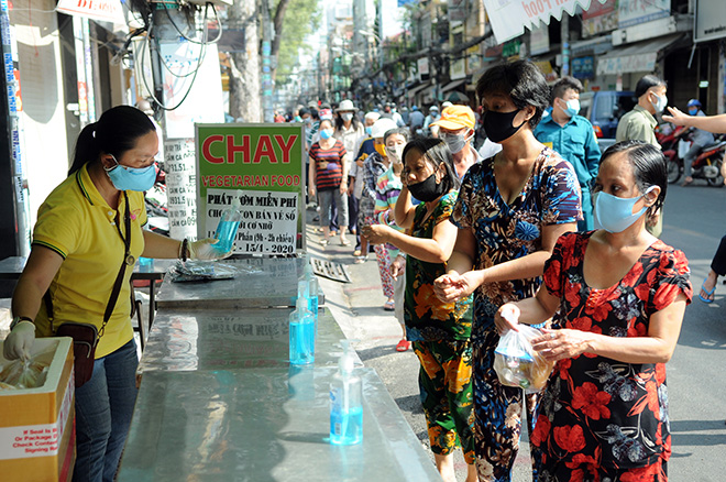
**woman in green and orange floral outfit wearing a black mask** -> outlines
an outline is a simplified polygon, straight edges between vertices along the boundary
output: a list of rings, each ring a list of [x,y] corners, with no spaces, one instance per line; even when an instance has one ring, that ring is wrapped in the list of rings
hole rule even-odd
[[[459,179],[451,151],[439,139],[409,142],[403,157],[404,187],[395,218],[407,233],[386,224],[366,227],[364,232],[374,242],[389,242],[407,253],[404,318],[421,363],[418,383],[437,469],[446,482],[457,481],[453,451],[460,445],[469,463],[466,482],[476,482],[469,340],[472,300],[444,303],[433,294],[433,280],[446,273],[457,239],[449,218]],[[421,202],[414,206],[411,195]]]

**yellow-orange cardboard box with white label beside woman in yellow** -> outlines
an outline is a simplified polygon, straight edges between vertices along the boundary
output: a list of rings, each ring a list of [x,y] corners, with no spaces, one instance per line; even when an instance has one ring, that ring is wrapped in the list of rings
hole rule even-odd
[[[33,354],[54,349],[43,386],[0,390],[3,481],[70,481],[76,461],[73,340],[38,338]],[[0,365],[10,363],[1,355]]]

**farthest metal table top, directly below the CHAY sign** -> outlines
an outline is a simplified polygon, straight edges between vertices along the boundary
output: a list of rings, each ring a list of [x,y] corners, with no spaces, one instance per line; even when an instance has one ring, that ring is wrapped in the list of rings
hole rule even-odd
[[[238,309],[295,306],[297,280],[302,275],[306,258],[250,258],[222,260],[237,276],[202,283],[164,283],[156,306],[175,309]],[[319,305],[324,303],[318,292]]]

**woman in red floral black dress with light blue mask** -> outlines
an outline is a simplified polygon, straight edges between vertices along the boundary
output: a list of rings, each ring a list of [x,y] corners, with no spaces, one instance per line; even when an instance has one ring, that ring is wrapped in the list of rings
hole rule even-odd
[[[553,316],[532,347],[557,361],[531,435],[538,482],[664,482],[671,453],[666,362],[693,295],[688,260],[646,230],[663,202],[660,151],[603,154],[596,231],[560,237],[535,298],[503,305],[499,332]]]

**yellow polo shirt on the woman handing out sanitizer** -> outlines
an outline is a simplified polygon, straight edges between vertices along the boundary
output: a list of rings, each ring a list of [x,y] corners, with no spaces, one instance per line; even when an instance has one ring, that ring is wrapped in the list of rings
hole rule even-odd
[[[127,195],[131,210],[131,254],[139,259],[144,250],[144,194],[129,190]],[[118,220],[125,237],[124,212],[122,195]],[[33,229],[33,245],[48,248],[64,259],[50,288],[56,328],[65,321],[101,328],[106,305],[124,259],[124,244],[116,220],[117,209],[100,195],[87,166],[68,176],[41,205]],[[96,349],[97,359],[118,350],[133,337],[129,282],[132,271],[133,266],[127,266],[119,299]],[[38,337],[53,336],[45,303],[41,303],[35,325]]]

